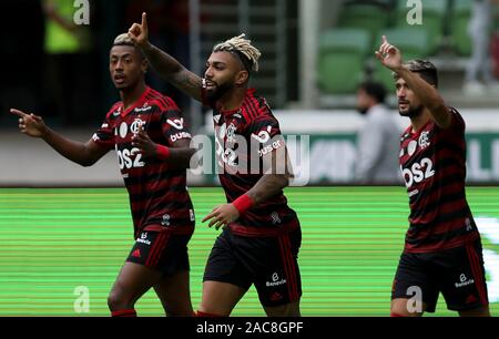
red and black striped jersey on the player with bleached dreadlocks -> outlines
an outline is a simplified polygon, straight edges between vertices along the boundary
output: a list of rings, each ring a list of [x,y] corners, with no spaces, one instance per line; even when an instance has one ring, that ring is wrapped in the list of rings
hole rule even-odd
[[[284,174],[286,147],[277,120],[264,97],[248,90],[237,110],[224,112],[213,107],[217,174],[228,203],[247,193],[266,170]],[[277,164],[267,166],[273,151]],[[272,163],[272,161],[271,161]],[[299,227],[296,213],[287,205],[283,192],[247,210],[228,225],[237,235],[247,237],[276,236]]]

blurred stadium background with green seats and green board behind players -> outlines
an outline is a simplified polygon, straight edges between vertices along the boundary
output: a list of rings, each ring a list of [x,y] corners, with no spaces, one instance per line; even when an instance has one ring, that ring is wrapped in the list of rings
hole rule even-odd
[[[499,315],[499,95],[462,91],[472,0],[422,0],[422,24],[414,27],[406,20],[406,0],[90,0],[90,24],[74,27],[75,39],[53,28],[43,2],[1,3],[1,316],[74,316],[78,286],[89,288],[90,315],[108,315],[106,294],[133,242],[115,156],[81,168],[17,132],[8,109],[35,112],[54,130],[86,141],[118,100],[109,80],[110,43],[142,11],[150,14],[152,41],[197,73],[213,43],[246,32],[263,52],[253,85],[268,99],[284,134],[309,136],[302,154],[310,163],[309,187],[288,189],[304,229],[305,316],[388,314],[407,228],[407,194],[401,186],[349,186],[363,123],[355,111],[356,86],[375,79],[394,89],[390,73],[374,62],[381,34],[406,56],[431,60],[440,70],[442,96],[468,124],[469,203],[483,234],[492,314]],[[72,18],[74,4],[86,1],[47,2]],[[147,76],[180,103],[194,132],[213,133],[207,112],[153,72]],[[395,110],[394,96],[389,103]],[[190,183],[200,186],[192,189],[198,217],[223,201],[222,189],[211,187],[217,186],[214,176],[190,175]],[[215,237],[197,223],[190,249],[194,305]],[[152,295],[138,310],[161,315]],[[253,290],[234,315],[263,315]],[[451,315],[442,300],[437,315]]]

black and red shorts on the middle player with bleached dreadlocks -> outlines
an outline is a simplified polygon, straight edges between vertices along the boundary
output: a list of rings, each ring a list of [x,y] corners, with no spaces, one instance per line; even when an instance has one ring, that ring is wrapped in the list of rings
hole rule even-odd
[[[301,245],[299,227],[273,237],[240,236],[226,227],[213,246],[203,281],[227,282],[245,290],[254,284],[265,307],[297,301],[302,296]]]

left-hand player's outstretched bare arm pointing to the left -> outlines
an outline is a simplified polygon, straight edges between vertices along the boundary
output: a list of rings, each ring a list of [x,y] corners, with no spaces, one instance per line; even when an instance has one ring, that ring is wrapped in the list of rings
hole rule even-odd
[[[28,114],[19,110],[10,110],[19,116],[19,130],[31,137],[40,137],[65,158],[82,166],[91,166],[104,156],[109,150],[100,146],[93,140],[79,143],[63,137],[50,130],[41,116]]]

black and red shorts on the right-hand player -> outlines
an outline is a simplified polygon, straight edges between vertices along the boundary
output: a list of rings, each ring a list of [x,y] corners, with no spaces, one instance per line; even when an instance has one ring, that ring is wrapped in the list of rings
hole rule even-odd
[[[404,253],[395,275],[393,299],[411,299],[421,294],[426,311],[435,312],[439,292],[447,308],[473,310],[489,304],[481,242],[436,253]]]

